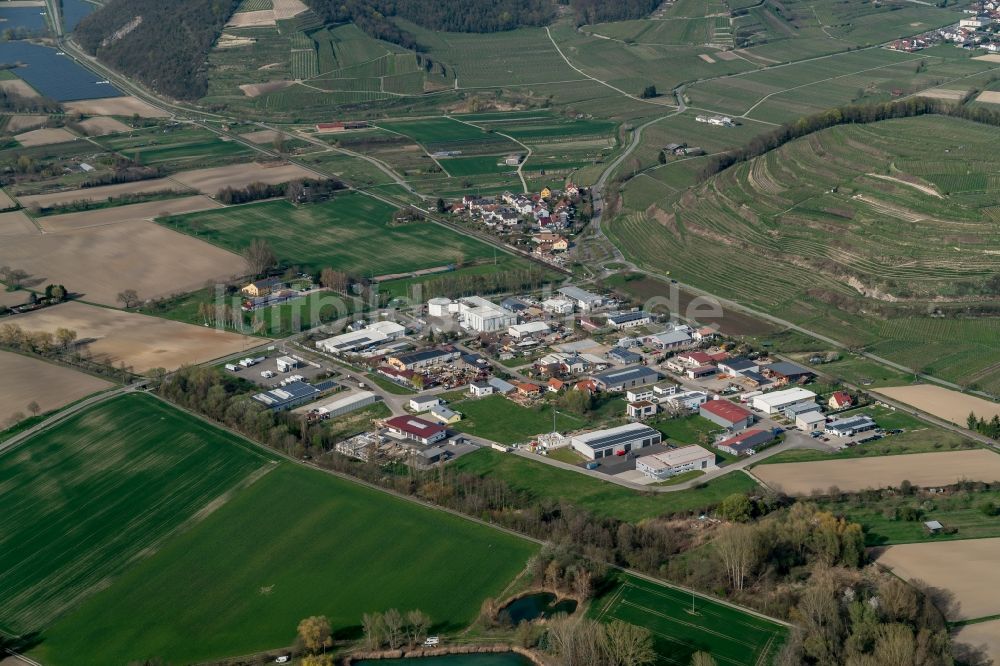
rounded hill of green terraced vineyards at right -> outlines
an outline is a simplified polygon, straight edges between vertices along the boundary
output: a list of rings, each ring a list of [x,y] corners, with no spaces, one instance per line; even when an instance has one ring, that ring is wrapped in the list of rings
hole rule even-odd
[[[998,150],[994,128],[943,117],[835,127],[610,232],[684,282],[1000,391],[1000,322],[958,317],[998,295]]]

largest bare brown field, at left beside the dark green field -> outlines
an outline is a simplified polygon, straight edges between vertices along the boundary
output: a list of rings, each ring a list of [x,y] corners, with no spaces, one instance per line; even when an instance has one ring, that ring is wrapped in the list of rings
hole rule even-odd
[[[2,265],[111,306],[118,305],[117,295],[124,289],[156,298],[246,273],[245,262],[235,254],[145,220],[4,238]]]

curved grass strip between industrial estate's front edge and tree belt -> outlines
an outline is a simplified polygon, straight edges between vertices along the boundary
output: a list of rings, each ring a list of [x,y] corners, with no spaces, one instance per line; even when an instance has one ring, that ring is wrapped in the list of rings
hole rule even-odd
[[[567,501],[596,515],[629,522],[670,513],[701,511],[728,495],[757,488],[750,477],[734,472],[690,490],[643,493],[541,461],[489,449],[464,455],[450,466],[460,472],[501,479],[536,501]]]

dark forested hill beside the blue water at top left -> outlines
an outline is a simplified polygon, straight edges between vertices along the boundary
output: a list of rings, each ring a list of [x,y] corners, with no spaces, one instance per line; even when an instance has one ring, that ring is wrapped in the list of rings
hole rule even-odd
[[[205,62],[239,0],[109,0],[76,27],[103,63],[176,99],[207,89]]]

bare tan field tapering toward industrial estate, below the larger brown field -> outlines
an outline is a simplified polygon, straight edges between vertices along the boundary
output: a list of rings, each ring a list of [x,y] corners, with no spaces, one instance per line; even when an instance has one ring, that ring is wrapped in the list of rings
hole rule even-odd
[[[214,328],[72,302],[15,315],[6,321],[26,331],[76,331],[77,340],[85,343],[95,357],[116,365],[124,363],[136,372],[205,363],[266,342]]]

